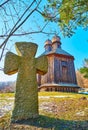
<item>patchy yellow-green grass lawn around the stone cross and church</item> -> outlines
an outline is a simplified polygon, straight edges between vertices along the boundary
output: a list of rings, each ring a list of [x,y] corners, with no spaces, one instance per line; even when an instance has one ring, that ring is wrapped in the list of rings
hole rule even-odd
[[[88,130],[88,95],[39,92],[39,118],[10,124],[14,93],[0,94],[0,130]]]

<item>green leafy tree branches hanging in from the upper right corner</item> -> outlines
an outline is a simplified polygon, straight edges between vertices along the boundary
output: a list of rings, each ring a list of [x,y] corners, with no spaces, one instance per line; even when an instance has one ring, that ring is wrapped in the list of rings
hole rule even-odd
[[[88,29],[88,0],[48,0],[44,16],[57,22],[64,36],[72,36],[77,27]]]

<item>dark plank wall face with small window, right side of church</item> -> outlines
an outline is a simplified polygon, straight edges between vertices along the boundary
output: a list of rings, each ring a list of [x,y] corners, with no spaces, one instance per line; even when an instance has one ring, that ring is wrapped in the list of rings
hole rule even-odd
[[[76,75],[73,59],[55,56],[54,80],[55,83],[59,82],[76,83]]]

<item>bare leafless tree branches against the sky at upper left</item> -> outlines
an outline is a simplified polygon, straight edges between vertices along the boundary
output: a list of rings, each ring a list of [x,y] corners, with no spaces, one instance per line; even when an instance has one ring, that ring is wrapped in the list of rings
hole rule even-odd
[[[39,24],[39,19],[38,22],[36,20],[36,15],[40,14],[43,16],[41,14],[43,6],[43,0],[2,0],[0,2],[0,61],[6,51],[8,51],[9,41],[14,39],[12,37],[35,33],[54,34],[54,32],[46,31],[49,21],[43,21],[42,24]],[[31,24],[31,28],[25,27],[27,21],[29,25]],[[35,24],[35,29],[33,23]]]

